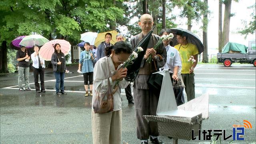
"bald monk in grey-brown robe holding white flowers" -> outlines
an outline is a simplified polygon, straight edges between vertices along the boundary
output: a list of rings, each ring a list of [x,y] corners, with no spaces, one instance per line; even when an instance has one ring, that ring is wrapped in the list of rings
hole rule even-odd
[[[150,14],[143,14],[140,17],[140,22],[138,22],[142,32],[131,38],[131,44],[134,48],[138,42],[152,29],[154,24],[153,18]],[[158,42],[160,37],[156,34],[152,34],[150,41],[148,43],[148,48],[142,64],[140,66],[140,71],[134,82],[134,106],[137,121],[137,137],[141,140],[141,144],[148,144],[148,138],[150,138],[153,144],[164,144],[161,140],[158,140],[158,126],[156,122],[147,123],[142,117],[143,115],[156,115],[156,108],[158,104],[159,94],[155,94],[152,90],[148,88],[148,78],[154,72],[156,68],[154,62],[146,62],[150,54],[157,64],[157,68],[161,68],[166,63],[166,48],[164,44],[161,44],[156,50],[153,49],[154,45]]]

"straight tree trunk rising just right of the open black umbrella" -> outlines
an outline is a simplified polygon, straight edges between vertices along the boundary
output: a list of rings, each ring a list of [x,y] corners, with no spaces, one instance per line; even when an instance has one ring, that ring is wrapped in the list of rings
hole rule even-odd
[[[204,3],[207,6],[208,10],[208,0],[204,0]],[[204,44],[204,52],[203,52],[203,60],[202,62],[208,63],[208,43],[207,43],[207,28],[208,28],[208,12],[206,11],[203,18],[203,44]]]

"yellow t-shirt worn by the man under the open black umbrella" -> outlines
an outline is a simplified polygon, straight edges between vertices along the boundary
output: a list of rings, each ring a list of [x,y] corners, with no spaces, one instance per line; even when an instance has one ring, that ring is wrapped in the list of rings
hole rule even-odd
[[[183,46],[183,45],[182,45]],[[192,67],[192,61],[188,61],[190,56],[194,56],[198,54],[198,49],[196,45],[188,43],[188,45],[180,46],[180,44],[174,46],[179,52],[181,57],[181,65],[182,65],[182,74],[188,74],[190,68]]]

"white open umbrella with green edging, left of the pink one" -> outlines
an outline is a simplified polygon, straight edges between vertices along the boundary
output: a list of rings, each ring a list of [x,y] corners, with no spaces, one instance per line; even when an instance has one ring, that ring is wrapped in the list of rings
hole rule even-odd
[[[21,46],[33,47],[34,45],[42,46],[49,40],[39,34],[32,34],[29,36],[25,36],[22,41],[19,43]]]

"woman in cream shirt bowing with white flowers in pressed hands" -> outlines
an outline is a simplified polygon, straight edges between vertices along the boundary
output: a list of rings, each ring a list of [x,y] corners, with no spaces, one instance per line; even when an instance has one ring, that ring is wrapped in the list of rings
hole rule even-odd
[[[92,102],[96,98],[96,93],[106,93],[108,90],[108,80],[112,88],[112,93],[116,82],[118,89],[126,88],[129,84],[124,78],[127,68],[121,64],[129,58],[132,48],[125,42],[116,42],[112,46],[106,47],[106,56],[100,58],[94,67]],[[122,137],[122,99],[120,91],[113,94],[114,110],[103,114],[94,113],[92,108],[92,140],[93,144],[120,144]]]

